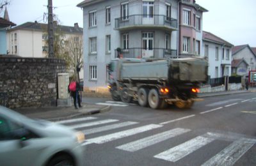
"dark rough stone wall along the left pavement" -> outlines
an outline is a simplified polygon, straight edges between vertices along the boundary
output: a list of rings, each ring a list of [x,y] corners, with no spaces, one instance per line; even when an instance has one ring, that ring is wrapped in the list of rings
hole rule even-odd
[[[6,107],[56,106],[58,73],[63,72],[65,61],[60,59],[0,57],[0,93],[6,93]]]

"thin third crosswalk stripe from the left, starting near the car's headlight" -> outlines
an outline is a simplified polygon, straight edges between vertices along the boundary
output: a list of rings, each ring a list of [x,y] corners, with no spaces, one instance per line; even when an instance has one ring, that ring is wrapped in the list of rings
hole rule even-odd
[[[99,132],[104,132],[104,131],[108,131],[108,130],[112,130],[112,129],[116,129],[116,128],[130,126],[132,124],[138,124],[138,122],[127,121],[127,122],[123,122],[123,123],[110,124],[108,126],[102,126],[102,127],[98,127],[98,128],[90,128],[88,130],[83,130],[82,132],[84,134],[99,133]]]

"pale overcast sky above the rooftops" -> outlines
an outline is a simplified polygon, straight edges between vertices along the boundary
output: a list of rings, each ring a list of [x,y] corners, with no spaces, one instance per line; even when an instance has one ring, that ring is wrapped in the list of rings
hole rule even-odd
[[[83,26],[83,11],[76,5],[83,0],[52,0],[54,14],[62,25]],[[256,0],[196,0],[208,12],[203,16],[203,30],[209,31],[233,45],[256,47]],[[24,22],[46,23],[47,0],[11,0],[10,20],[17,25]]]

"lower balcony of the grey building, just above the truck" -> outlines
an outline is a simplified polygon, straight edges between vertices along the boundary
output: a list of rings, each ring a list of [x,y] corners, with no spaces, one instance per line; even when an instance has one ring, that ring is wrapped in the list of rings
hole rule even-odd
[[[120,55],[120,56],[118,56]],[[115,58],[116,57],[125,57],[125,58],[177,58],[177,50],[171,49],[142,49],[142,48],[131,48],[131,49],[121,49],[121,53],[115,50]]]

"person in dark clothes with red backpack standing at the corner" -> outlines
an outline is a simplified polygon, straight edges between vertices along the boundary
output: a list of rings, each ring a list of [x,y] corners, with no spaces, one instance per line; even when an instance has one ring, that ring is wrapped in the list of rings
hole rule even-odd
[[[76,103],[78,104],[78,107],[82,107],[79,91],[81,91],[81,89],[77,79],[72,79],[72,81],[68,84],[68,92],[70,92],[71,96],[73,97],[75,109],[77,109]]]

